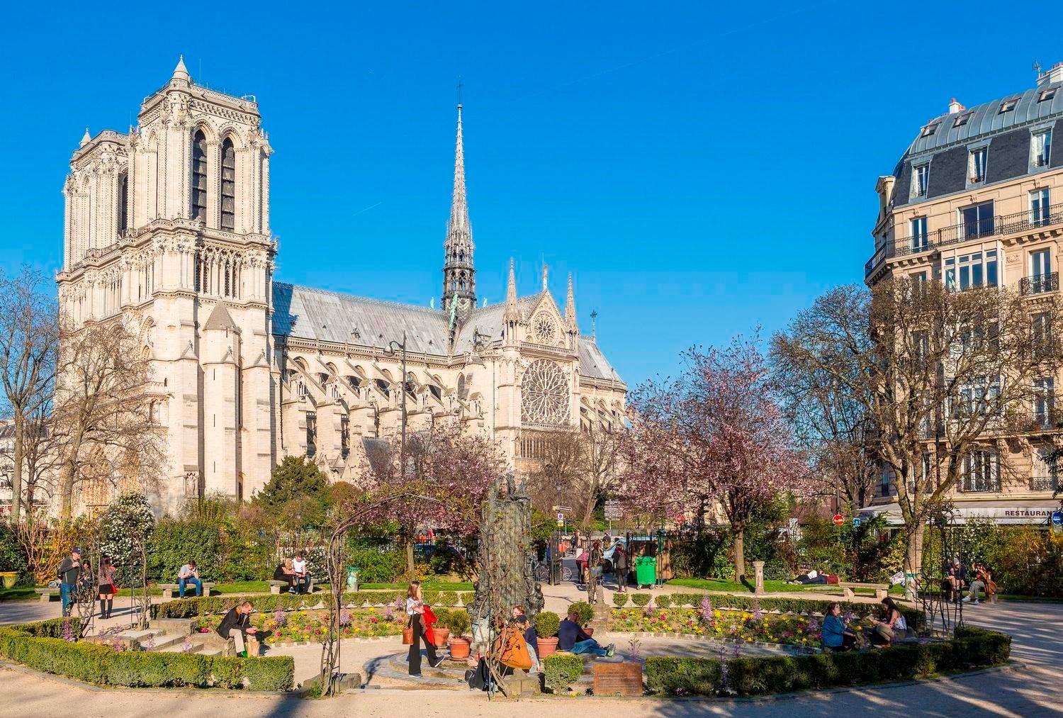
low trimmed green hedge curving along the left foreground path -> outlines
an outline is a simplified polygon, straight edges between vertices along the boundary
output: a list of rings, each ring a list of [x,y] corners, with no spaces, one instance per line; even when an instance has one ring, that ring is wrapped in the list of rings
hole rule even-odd
[[[248,688],[290,690],[291,656],[223,658],[196,653],[116,651],[106,646],[69,642],[64,619],[0,629],[0,655],[35,670],[96,683],[129,687]]]

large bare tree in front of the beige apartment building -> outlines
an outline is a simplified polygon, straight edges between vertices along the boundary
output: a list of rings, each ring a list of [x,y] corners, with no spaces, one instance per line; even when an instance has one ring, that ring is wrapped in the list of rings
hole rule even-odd
[[[867,440],[893,478],[909,573],[922,570],[924,528],[954,488],[998,486],[1031,433],[1059,434],[1048,381],[1059,321],[1054,295],[898,278],[836,288],[776,335],[786,375],[806,385],[829,377],[872,422]]]

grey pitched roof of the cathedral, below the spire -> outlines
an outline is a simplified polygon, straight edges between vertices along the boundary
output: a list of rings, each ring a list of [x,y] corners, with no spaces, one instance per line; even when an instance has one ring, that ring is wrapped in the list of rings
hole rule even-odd
[[[517,300],[524,319],[541,297],[540,293]],[[501,339],[504,312],[503,303],[473,310],[458,331],[454,353],[471,351],[474,333],[486,335],[486,344]],[[449,320],[446,313],[428,306],[273,283],[275,336],[386,348],[392,340],[402,341],[405,331],[407,351],[445,356]],[[357,336],[352,334],[355,329]],[[579,340],[579,373],[620,381],[602,350],[586,336]]]

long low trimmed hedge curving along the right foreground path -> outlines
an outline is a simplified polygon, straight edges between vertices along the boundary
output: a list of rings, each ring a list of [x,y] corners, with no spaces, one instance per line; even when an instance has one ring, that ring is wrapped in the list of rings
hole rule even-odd
[[[726,685],[720,661],[651,656],[646,684],[651,690],[670,695],[763,696],[973,670],[1002,664],[1010,652],[1011,636],[962,628],[949,640],[897,644],[889,651],[732,658],[726,662]]]

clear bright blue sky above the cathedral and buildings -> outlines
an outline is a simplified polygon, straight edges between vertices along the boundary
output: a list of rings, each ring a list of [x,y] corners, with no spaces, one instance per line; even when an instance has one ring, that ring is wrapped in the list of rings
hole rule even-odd
[[[369,4],[5,11],[0,267],[56,270],[85,127],[124,131],[184,53],[259,101],[276,278],[427,304],[460,76],[479,295],[504,299],[511,255],[522,294],[545,262],[563,301],[573,271],[634,385],[861,281],[876,179],[919,126],[1063,60],[1000,3]]]

